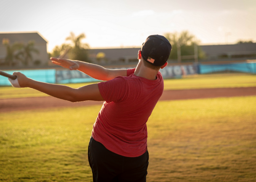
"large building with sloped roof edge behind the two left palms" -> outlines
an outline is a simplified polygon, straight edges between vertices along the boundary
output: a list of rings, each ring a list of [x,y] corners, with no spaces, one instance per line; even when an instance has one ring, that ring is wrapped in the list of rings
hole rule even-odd
[[[0,33],[0,65],[3,65],[6,57],[6,47],[2,44],[3,40],[8,40],[9,44],[14,42],[23,43],[26,45],[29,41],[34,41],[34,48],[39,51],[39,53],[32,52],[32,63],[46,65],[48,64],[48,54],[47,54],[47,41],[38,32],[20,32],[20,33]],[[14,60],[18,65],[21,65],[21,61]]]

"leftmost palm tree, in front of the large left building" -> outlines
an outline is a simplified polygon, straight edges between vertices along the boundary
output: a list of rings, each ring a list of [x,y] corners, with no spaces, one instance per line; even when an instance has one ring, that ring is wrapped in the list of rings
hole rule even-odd
[[[14,60],[21,60],[21,56],[23,55],[21,52],[22,43],[15,42],[13,45],[10,45],[8,39],[3,39],[3,45],[6,47],[6,65],[12,66]]]

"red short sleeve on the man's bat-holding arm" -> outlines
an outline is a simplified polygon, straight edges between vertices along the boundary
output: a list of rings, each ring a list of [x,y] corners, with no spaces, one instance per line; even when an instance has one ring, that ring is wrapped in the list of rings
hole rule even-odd
[[[128,84],[124,77],[116,77],[107,82],[98,83],[99,92],[107,102],[121,102],[126,99]]]

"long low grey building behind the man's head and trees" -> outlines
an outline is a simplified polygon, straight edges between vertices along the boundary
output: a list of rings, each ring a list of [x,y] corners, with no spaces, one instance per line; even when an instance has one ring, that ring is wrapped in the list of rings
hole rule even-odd
[[[256,59],[256,43],[246,44],[227,44],[227,45],[200,45],[200,48],[205,52],[207,60],[245,60]],[[132,63],[138,61],[138,48],[119,48],[119,49],[90,49],[89,57],[94,63]],[[102,55],[104,58],[97,58],[97,55]],[[176,60],[170,60],[170,62]],[[106,64],[105,63],[105,64]]]

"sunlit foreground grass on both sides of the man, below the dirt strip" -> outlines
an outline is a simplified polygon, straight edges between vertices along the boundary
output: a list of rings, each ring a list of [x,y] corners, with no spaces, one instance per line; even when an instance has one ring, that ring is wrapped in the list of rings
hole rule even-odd
[[[256,96],[162,101],[147,122],[148,182],[256,181]],[[1,113],[0,180],[92,181],[101,106]]]

